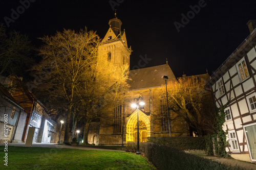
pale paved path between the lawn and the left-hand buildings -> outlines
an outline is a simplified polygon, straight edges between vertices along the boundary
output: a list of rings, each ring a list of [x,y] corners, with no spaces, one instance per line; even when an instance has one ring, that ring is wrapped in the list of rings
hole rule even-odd
[[[5,145],[4,143],[0,143],[0,146]],[[25,143],[8,143],[8,146],[15,147],[25,147]],[[121,150],[110,150],[110,149],[101,149],[101,148],[90,148],[90,147],[78,147],[78,146],[70,146],[70,145],[59,145],[55,143],[33,143],[32,147],[42,147],[42,148],[68,148],[68,149],[78,149],[78,150],[97,150],[97,151],[118,151],[125,152]]]

